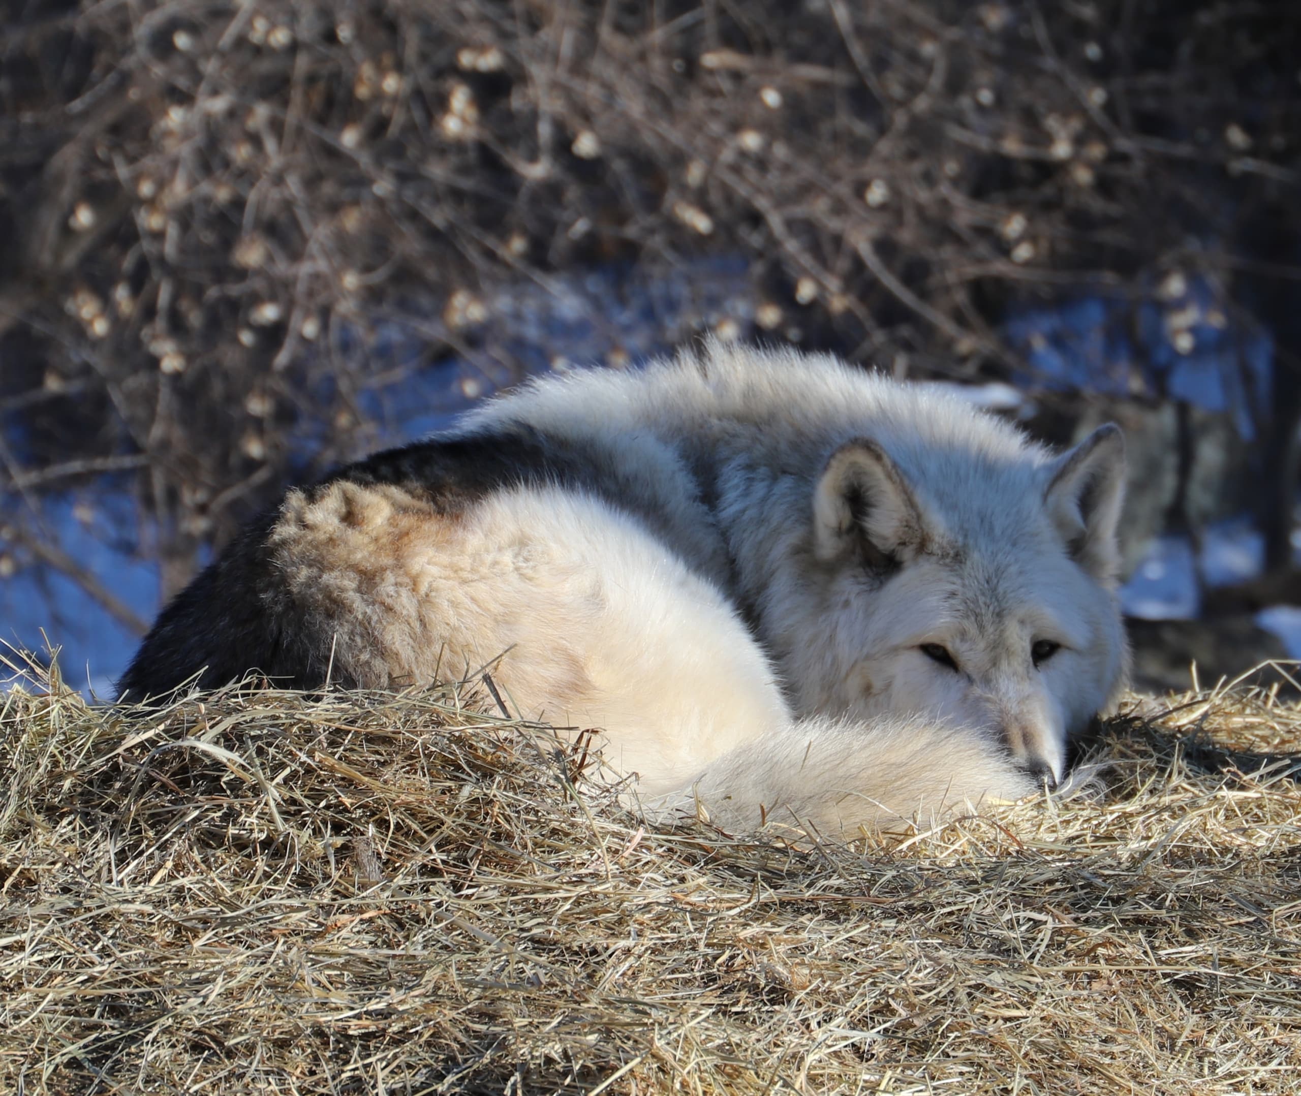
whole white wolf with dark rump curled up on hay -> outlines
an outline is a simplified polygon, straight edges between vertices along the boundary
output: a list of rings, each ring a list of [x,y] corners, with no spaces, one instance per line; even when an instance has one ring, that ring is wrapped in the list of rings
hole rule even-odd
[[[939,818],[1055,783],[1120,688],[1123,481],[1115,426],[1054,456],[950,394],[710,343],[290,491],[122,688],[490,666],[522,715],[600,728],[657,810]]]

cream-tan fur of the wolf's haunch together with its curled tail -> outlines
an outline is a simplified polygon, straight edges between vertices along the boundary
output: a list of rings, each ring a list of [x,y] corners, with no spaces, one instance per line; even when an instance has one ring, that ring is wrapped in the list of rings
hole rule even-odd
[[[290,589],[341,625],[340,671],[386,686],[490,667],[513,714],[600,728],[605,762],[657,816],[704,807],[738,829],[773,815],[843,836],[1034,788],[935,719],[798,720],[719,590],[584,494],[505,491],[448,520],[342,482],[312,504],[293,495],[273,543]]]

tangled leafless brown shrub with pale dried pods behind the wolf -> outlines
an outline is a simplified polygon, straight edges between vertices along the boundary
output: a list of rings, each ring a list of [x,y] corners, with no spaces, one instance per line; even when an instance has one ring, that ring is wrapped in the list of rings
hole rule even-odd
[[[174,585],[373,441],[392,363],[358,347],[388,312],[427,311],[425,360],[509,374],[493,294],[593,264],[742,256],[758,334],[900,374],[1024,368],[1002,321],[1045,293],[1196,276],[1275,322],[1298,25],[1123,0],[29,5],[0,57],[4,490],[139,462]]]

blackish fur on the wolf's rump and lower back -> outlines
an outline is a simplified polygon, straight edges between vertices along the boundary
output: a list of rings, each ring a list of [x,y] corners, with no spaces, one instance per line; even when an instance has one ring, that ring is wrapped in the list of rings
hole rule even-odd
[[[518,485],[556,484],[587,490],[627,507],[630,493],[595,449],[544,438],[531,428],[435,438],[386,450],[340,468],[307,489],[317,495],[341,480],[392,484],[428,502],[440,515],[457,515],[494,491]],[[656,514],[637,515],[654,529]],[[243,529],[159,615],[118,681],[124,699],[173,692],[187,681],[211,689],[252,671],[288,688],[325,684],[330,640],[294,603],[268,546],[278,511]],[[337,672],[338,684],[355,684]]]

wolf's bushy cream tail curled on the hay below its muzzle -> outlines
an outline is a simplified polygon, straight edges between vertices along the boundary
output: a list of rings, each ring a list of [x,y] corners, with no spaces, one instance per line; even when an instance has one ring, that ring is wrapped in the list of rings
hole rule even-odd
[[[869,724],[817,718],[725,754],[688,790],[644,806],[661,818],[704,807],[734,832],[771,822],[839,839],[930,826],[1036,787],[997,744],[971,731],[924,716]]]

